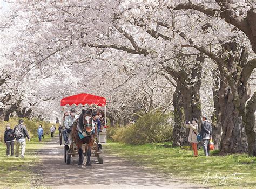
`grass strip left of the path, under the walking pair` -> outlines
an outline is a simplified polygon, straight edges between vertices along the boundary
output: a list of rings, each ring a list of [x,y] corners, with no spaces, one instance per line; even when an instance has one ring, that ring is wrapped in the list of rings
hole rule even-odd
[[[45,135],[43,141],[50,141],[50,135]],[[6,146],[0,143],[0,188],[31,188],[31,183],[40,179],[33,173],[39,163],[36,150],[42,148],[38,138],[26,141],[25,158],[6,157]],[[15,153],[15,151],[14,151]],[[21,152],[19,152],[21,155]]]

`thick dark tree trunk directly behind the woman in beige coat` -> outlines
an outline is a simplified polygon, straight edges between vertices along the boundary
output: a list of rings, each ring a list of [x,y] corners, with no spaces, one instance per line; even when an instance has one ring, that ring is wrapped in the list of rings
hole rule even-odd
[[[176,91],[173,94],[174,106],[174,128],[173,128],[173,146],[188,145],[189,128],[185,127],[185,120],[197,118],[199,120],[198,126],[200,130],[201,117],[201,101],[200,101],[200,87],[201,87],[201,63],[204,62],[204,57],[198,56],[196,58],[196,66],[191,71],[191,81],[189,72],[169,71],[172,77],[176,80]],[[194,82],[194,80],[196,82]]]

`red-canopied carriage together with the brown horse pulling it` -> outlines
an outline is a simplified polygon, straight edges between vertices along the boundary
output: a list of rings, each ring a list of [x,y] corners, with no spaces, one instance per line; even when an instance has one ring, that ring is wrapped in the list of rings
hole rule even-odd
[[[75,108],[76,111],[80,114],[79,118],[77,118],[73,123],[72,135],[68,134],[69,140],[71,141],[69,144],[65,144],[63,140],[64,138],[63,134],[60,134],[59,142],[60,142],[60,145],[64,144],[64,161],[66,162],[66,164],[70,164],[71,158],[77,157],[78,154],[79,154],[78,165],[80,164],[83,166],[83,155],[86,155],[87,162],[88,162],[88,158],[90,160],[91,154],[97,156],[98,163],[102,164],[103,163],[102,143],[106,143],[106,99],[100,96],[81,93],[81,94],[63,98],[60,102],[60,106],[62,106],[63,117],[65,114],[65,111],[69,111],[70,108]],[[88,110],[89,108],[90,110]],[[95,127],[93,120],[89,119],[89,116],[91,116],[92,110],[104,111],[105,125],[102,125],[100,132],[97,132],[97,127]],[[79,122],[80,122],[80,125],[82,126],[79,126]],[[62,126],[64,127],[64,119],[62,120]],[[78,137],[78,136],[82,136],[82,134],[78,133],[79,132],[78,130],[81,130],[79,127],[82,129],[84,128],[83,134],[85,134],[86,137],[84,138]],[[93,132],[93,127],[96,128],[96,132]],[[90,132],[87,132],[85,130],[85,129],[88,130],[90,128],[91,128]],[[90,155],[88,154],[88,148],[89,148],[89,152],[91,151]],[[87,162],[86,162],[86,165],[87,165]]]

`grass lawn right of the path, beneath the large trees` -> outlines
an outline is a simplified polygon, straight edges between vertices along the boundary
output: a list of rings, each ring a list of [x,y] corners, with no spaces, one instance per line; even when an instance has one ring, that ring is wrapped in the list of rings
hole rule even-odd
[[[106,150],[151,167],[158,172],[170,174],[191,183],[216,188],[256,188],[256,157],[247,155],[219,156],[211,151],[204,156],[192,157],[192,149],[170,148],[169,143],[126,145],[109,142]],[[203,183],[203,181],[205,183]]]

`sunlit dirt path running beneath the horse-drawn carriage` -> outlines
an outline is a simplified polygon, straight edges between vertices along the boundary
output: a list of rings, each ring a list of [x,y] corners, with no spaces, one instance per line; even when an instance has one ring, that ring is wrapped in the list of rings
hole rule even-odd
[[[91,168],[78,167],[78,157],[71,158],[71,165],[66,165],[63,149],[58,138],[54,138],[39,152],[43,164],[36,172],[42,176],[41,185],[50,188],[199,188],[132,165],[128,160],[107,154],[107,150],[103,164],[98,164],[97,158],[92,156]]]

